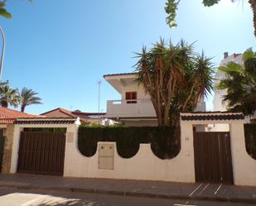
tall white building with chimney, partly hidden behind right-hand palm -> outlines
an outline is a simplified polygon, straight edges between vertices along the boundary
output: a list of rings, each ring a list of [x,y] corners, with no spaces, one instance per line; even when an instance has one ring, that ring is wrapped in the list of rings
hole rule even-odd
[[[233,54],[229,55],[228,52],[224,53],[224,59],[220,61],[220,66],[224,66],[227,63],[233,61],[234,63],[237,63],[239,65],[242,65],[243,63],[243,54]],[[220,83],[221,79],[225,78],[225,73],[221,72],[220,70],[217,71],[216,76],[215,76],[215,85]],[[219,89],[214,89],[214,98],[213,98],[213,110],[214,111],[220,111],[220,112],[225,112],[227,111],[227,105],[223,103],[223,98],[225,94],[227,93],[226,89],[219,90]],[[256,120],[256,117],[245,117],[246,122],[254,122]],[[223,127],[224,130],[225,127]],[[215,130],[215,128],[214,128]]]

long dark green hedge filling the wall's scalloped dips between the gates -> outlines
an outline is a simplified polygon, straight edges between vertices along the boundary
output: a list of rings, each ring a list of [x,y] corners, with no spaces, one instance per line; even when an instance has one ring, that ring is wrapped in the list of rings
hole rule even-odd
[[[180,137],[174,127],[80,127],[78,148],[84,156],[94,156],[98,141],[114,141],[118,155],[131,158],[139,144],[151,144],[152,152],[161,159],[171,159],[180,151]]]

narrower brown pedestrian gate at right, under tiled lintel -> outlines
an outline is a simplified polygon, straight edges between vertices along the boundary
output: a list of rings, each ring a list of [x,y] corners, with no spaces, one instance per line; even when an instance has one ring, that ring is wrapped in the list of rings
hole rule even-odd
[[[233,184],[229,132],[194,132],[196,182]]]

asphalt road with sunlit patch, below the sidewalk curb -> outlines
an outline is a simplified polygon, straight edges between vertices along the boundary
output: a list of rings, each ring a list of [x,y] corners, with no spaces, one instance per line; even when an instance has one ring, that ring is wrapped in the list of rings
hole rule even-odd
[[[0,188],[0,206],[252,206],[253,204],[232,204],[223,202],[175,200],[175,199],[149,199],[149,198],[123,198],[107,194],[85,194],[64,191],[46,191],[31,189]]]

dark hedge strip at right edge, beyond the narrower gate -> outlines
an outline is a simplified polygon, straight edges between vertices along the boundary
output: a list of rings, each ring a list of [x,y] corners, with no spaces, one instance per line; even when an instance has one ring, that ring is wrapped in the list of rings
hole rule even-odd
[[[256,124],[244,124],[246,151],[256,160]]]

